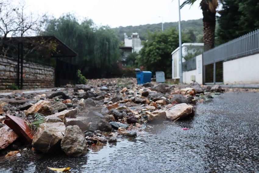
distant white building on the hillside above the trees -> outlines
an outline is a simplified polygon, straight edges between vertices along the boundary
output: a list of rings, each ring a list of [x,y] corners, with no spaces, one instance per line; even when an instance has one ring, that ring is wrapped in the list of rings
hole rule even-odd
[[[138,33],[132,33],[130,37],[128,37],[126,33],[124,33],[124,46],[132,47],[132,53],[133,52],[139,53],[143,45],[141,44],[141,40],[139,38]]]

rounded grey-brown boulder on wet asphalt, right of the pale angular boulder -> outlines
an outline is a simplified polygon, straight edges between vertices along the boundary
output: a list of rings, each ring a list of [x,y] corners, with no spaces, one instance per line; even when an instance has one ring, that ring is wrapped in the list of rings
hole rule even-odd
[[[78,126],[66,127],[65,135],[61,140],[61,149],[68,156],[85,156],[87,145],[84,135]]]

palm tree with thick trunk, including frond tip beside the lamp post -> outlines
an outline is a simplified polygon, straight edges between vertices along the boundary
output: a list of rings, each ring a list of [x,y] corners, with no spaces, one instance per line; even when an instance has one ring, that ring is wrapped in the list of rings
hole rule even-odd
[[[186,0],[181,5],[181,8],[186,4],[191,4],[196,0]],[[215,41],[215,26],[216,26],[216,8],[218,0],[201,0],[200,8],[203,14],[203,42],[204,51],[214,48]]]

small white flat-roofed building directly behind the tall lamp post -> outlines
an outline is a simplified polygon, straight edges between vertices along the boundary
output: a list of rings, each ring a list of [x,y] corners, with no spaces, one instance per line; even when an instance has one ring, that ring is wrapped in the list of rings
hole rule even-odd
[[[182,57],[188,55],[188,53],[196,53],[197,51],[202,51],[204,49],[204,43],[183,43],[182,44]],[[172,53],[172,79],[179,79],[179,47],[174,50]],[[185,59],[183,58],[183,62]]]

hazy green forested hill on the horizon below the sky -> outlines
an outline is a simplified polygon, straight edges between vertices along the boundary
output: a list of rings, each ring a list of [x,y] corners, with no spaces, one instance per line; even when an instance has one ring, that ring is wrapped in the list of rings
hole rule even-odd
[[[164,23],[164,30],[169,27],[176,27],[178,30],[178,22],[167,22]],[[203,35],[203,22],[202,19],[197,20],[183,20],[182,21],[182,31],[186,32],[188,29],[192,28],[194,34]],[[147,34],[146,29],[151,32],[155,30],[160,31],[162,29],[162,24],[146,24],[146,25],[139,25],[139,26],[126,26],[126,27],[119,27],[119,28],[112,28],[115,31],[116,35],[119,37],[120,40],[124,40],[124,33],[130,36],[133,32],[139,33],[140,39],[144,40],[145,35]]]

